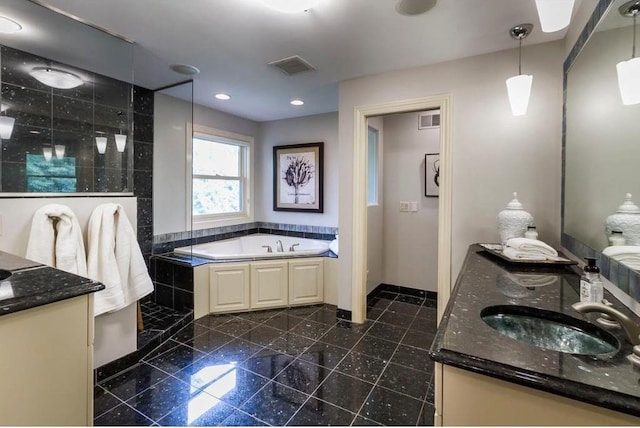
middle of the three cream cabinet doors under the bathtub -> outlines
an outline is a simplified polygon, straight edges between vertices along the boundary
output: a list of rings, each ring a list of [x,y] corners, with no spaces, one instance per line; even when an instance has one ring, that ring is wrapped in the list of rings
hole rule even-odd
[[[286,261],[251,263],[251,309],[286,306],[288,278]]]

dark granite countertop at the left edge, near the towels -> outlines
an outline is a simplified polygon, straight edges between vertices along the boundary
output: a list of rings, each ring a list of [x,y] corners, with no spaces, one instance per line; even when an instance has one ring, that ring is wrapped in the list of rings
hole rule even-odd
[[[11,276],[0,281],[0,316],[94,293],[100,282],[0,251],[0,269]]]

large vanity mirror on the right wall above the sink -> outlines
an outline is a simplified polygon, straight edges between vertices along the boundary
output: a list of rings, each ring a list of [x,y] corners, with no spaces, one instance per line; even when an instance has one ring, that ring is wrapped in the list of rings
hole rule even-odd
[[[623,104],[616,71],[632,57],[633,19],[619,12],[625,3],[601,0],[565,63],[562,242],[599,258],[605,276],[628,292],[640,264],[602,254],[611,246],[607,217],[627,193],[640,202],[640,104]]]

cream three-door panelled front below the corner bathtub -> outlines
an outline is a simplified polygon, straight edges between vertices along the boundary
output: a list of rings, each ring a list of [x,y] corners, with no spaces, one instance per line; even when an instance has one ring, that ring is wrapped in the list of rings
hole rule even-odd
[[[210,263],[194,269],[194,317],[324,302],[324,259]]]

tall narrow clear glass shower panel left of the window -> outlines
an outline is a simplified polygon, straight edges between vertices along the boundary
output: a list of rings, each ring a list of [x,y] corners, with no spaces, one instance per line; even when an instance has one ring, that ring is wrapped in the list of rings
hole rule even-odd
[[[153,234],[173,234],[172,241],[191,239],[191,153],[193,81],[154,93]],[[189,140],[189,141],[188,141]],[[185,246],[190,245],[185,243]]]

